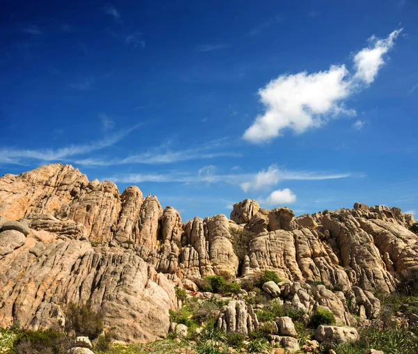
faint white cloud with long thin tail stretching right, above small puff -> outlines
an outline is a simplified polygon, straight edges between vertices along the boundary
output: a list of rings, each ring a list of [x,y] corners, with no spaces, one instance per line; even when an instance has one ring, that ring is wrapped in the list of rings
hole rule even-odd
[[[267,170],[261,170],[256,175],[253,175],[251,179],[240,184],[243,191],[249,190],[262,190],[275,186],[281,180],[320,180],[320,179],[339,179],[350,177],[350,173],[318,173],[318,172],[306,172],[306,171],[286,171],[280,170],[276,165],[270,166]]]

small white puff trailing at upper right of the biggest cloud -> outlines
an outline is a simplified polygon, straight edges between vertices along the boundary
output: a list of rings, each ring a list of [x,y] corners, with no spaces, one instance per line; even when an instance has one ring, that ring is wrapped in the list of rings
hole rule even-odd
[[[359,79],[367,85],[376,79],[380,67],[385,64],[383,56],[392,49],[394,40],[401,31],[402,29],[393,31],[387,38],[382,40],[379,40],[374,35],[369,38],[371,47],[362,49],[354,57],[356,71],[354,79]]]

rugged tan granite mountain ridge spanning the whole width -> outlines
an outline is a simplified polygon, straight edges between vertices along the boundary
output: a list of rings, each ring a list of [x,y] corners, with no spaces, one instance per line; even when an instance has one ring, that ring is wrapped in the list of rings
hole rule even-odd
[[[263,270],[284,280],[279,290],[266,286],[272,298],[280,294],[307,314],[325,307],[350,325],[354,315],[376,317],[373,293],[394,291],[398,276],[418,266],[413,225],[398,208],[356,203],[295,218],[291,209],[261,209],[255,200],[234,204],[230,218],[183,223],[176,209],[162,209],[137,186],[119,193],[114,183],[89,182],[70,165],[4,175],[0,326],[62,325],[65,303],[90,303],[118,339],[153,341],[167,335],[169,309],[180,305],[175,286],[196,291],[208,275],[239,283]],[[234,250],[233,230],[254,235],[244,257]],[[247,333],[258,320],[238,295],[218,323]]]

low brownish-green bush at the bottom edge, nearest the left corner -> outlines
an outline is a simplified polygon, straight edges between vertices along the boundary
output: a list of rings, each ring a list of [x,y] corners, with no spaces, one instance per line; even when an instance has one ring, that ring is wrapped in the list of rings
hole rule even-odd
[[[16,354],[61,354],[67,353],[72,339],[56,330],[26,330],[20,332],[13,344]]]

